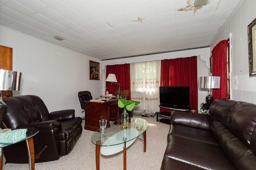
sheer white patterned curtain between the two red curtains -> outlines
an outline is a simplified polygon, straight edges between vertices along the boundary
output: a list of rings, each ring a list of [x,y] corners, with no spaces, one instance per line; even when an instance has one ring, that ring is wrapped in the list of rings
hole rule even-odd
[[[159,111],[161,61],[130,64],[131,100],[139,101],[134,111]]]

